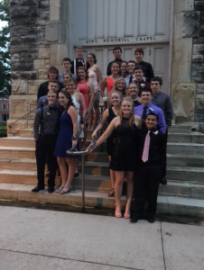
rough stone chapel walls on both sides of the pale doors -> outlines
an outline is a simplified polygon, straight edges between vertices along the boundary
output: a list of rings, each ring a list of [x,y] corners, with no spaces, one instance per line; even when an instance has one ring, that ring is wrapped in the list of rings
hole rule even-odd
[[[36,107],[39,85],[47,80],[49,67],[62,71],[61,59],[69,56],[70,1],[10,1],[12,95],[8,136],[32,129],[31,111]],[[204,1],[163,1],[170,1],[172,6],[170,94],[176,121],[192,122],[195,129],[204,131]],[[23,120],[9,127],[26,113]]]

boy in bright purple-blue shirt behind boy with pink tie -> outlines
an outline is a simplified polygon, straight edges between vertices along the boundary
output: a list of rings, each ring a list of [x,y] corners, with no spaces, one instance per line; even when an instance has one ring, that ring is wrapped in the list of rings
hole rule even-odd
[[[150,112],[156,113],[158,117],[157,128],[164,134],[166,132],[166,123],[162,109],[153,105],[152,100],[153,100],[153,91],[151,89],[143,89],[141,92],[142,104],[134,107],[134,115],[140,116],[144,121],[148,113]]]

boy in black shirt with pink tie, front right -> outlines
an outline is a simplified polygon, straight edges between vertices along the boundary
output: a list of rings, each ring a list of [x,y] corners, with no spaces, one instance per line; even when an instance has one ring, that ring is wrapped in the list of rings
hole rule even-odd
[[[155,129],[157,124],[157,114],[150,112],[146,115],[145,127],[138,131],[138,166],[134,183],[134,214],[130,219],[131,222],[142,218],[146,198],[148,198],[147,220],[154,222],[163,161],[163,133]]]

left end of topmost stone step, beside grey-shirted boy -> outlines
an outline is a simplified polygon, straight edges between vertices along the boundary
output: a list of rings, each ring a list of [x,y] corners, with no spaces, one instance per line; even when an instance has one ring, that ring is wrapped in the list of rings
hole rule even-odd
[[[6,137],[0,138],[0,147],[34,148],[33,138]]]

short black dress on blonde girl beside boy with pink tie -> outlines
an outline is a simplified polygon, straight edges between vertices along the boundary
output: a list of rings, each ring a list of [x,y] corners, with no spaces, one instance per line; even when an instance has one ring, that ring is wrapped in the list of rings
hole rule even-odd
[[[123,118],[116,128],[116,139],[111,157],[110,168],[113,171],[135,171],[137,157],[137,127],[129,126],[128,119]]]

